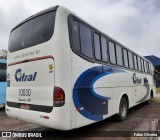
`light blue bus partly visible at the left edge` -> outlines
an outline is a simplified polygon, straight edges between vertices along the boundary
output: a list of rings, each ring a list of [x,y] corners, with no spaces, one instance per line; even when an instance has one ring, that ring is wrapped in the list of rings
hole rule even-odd
[[[0,59],[0,107],[6,103],[6,63],[7,60]]]

